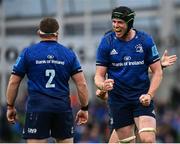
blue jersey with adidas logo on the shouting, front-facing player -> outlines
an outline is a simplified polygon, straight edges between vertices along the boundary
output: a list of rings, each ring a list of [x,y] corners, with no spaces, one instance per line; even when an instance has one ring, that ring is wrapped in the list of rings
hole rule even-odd
[[[97,49],[96,65],[107,67],[108,78],[115,81],[114,89],[109,91],[109,102],[120,97],[137,100],[147,93],[148,67],[158,60],[156,45],[148,34],[136,30],[135,37],[128,42],[118,39],[114,32],[106,34]]]

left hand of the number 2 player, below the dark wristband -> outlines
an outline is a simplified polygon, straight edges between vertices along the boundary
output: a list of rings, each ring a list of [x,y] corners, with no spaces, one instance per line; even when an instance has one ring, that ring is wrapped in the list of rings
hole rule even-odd
[[[6,117],[9,123],[14,124],[17,120],[15,107],[7,107]]]

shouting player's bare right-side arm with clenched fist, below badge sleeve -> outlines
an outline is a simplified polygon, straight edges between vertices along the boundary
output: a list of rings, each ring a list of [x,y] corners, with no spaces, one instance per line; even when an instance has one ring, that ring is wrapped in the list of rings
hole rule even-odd
[[[151,83],[150,83],[148,93],[141,95],[139,98],[140,102],[144,106],[148,106],[150,104],[151,99],[154,97],[155,92],[157,91],[163,77],[160,61],[157,61],[151,64],[150,69],[152,71],[152,78],[151,78]]]

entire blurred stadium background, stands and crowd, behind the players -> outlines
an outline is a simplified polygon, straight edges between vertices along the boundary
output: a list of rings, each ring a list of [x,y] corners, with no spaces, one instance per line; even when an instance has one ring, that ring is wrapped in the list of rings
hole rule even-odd
[[[39,41],[37,26],[46,16],[59,20],[59,42],[77,53],[88,81],[90,119],[86,126],[76,127],[75,142],[107,142],[108,109],[96,98],[93,83],[95,53],[100,38],[111,29],[112,8],[120,5],[136,11],[134,27],[154,37],[161,55],[168,49],[179,57],[164,70],[155,101],[157,141],[180,142],[180,0],[0,0],[0,142],[23,142],[26,78],[16,102],[19,121],[15,125],[6,121],[5,91],[13,63],[24,47]],[[71,98],[76,112],[79,105],[72,83]]]

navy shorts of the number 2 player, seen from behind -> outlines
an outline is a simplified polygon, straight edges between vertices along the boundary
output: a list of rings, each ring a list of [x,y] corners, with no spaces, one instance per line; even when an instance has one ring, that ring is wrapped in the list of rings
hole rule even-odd
[[[24,139],[44,139],[54,137],[63,140],[72,138],[73,136],[74,124],[72,112],[26,113],[23,129]]]

